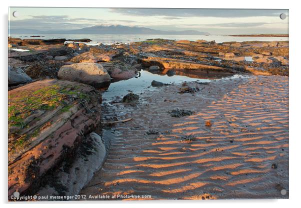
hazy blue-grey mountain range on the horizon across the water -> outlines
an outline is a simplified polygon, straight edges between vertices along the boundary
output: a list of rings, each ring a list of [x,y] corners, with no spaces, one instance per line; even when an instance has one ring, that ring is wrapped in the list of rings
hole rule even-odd
[[[208,32],[201,32],[197,30],[164,31],[164,30],[150,29],[147,27],[123,26],[123,25],[95,25],[91,27],[84,27],[81,29],[48,30],[48,31],[20,28],[20,29],[10,29],[10,33],[17,33],[17,34],[199,34],[199,35],[210,34]]]

